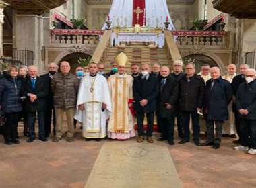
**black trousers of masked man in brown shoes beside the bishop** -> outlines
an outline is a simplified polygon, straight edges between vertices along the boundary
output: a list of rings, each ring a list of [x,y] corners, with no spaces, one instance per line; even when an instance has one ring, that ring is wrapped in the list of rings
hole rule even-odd
[[[143,130],[143,120],[145,113],[136,113],[137,125],[138,125],[138,134],[139,136],[144,136],[145,132]],[[153,126],[154,126],[154,111],[146,113],[148,128],[146,130],[146,136],[152,136]]]

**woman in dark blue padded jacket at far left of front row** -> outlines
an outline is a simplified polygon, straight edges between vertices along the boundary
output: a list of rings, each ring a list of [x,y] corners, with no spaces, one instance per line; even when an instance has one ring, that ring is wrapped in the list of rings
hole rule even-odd
[[[20,111],[22,111],[21,88],[22,81],[17,77],[18,68],[9,66],[7,75],[0,82],[0,105],[5,113],[4,128],[5,144],[20,144],[17,140],[17,126]]]

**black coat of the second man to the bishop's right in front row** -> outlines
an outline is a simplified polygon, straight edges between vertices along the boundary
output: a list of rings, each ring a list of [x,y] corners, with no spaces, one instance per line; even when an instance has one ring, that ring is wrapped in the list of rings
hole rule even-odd
[[[161,79],[162,80],[162,79]],[[170,115],[175,115],[177,110],[177,102],[179,100],[179,85],[178,81],[169,76],[166,79],[165,85],[161,85],[160,81],[160,92],[158,97],[158,111],[162,118],[168,118]],[[162,89],[161,89],[162,88]],[[173,107],[166,109],[166,103],[169,103]]]

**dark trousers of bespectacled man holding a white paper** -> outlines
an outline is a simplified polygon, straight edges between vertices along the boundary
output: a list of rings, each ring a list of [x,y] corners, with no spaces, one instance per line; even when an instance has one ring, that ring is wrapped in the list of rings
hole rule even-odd
[[[191,116],[193,137],[194,137],[194,140],[199,140],[200,126],[199,126],[199,115],[197,111],[193,111],[193,112],[183,111],[181,112],[181,115],[183,118],[184,139],[185,140],[190,139],[189,138],[189,135],[190,135],[189,122],[190,122],[190,116]]]

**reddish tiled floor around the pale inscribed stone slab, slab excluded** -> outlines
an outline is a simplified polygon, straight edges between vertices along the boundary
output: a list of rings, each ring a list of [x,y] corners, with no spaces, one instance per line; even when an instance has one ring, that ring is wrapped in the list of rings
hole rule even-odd
[[[157,134],[154,135],[156,137]],[[0,187],[84,187],[104,142],[86,142],[77,130],[75,142],[36,140],[7,146],[0,136]],[[156,140],[156,138],[155,138]],[[256,187],[256,156],[234,151],[232,139],[224,138],[219,150],[195,146],[192,142],[168,146],[185,188]],[[158,141],[156,141],[158,142]],[[155,143],[156,144],[156,143]],[[158,143],[159,144],[159,143]]]

